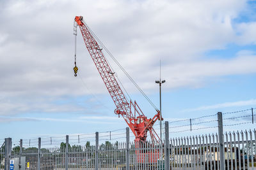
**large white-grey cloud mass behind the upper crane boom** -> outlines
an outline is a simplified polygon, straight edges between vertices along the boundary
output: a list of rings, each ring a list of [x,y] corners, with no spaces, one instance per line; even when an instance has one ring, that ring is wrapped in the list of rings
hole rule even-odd
[[[163,76],[171,82],[166,84],[168,89],[200,87],[211,76],[256,72],[252,54],[231,59],[204,58],[207,50],[223,49],[240,39],[243,44],[254,42],[251,36],[254,23],[236,27],[232,23],[239,12],[246,10],[246,1],[1,1],[0,4],[3,25],[0,92],[4,99],[0,103],[1,115],[92,111],[75,107],[76,104],[56,103],[63,96],[108,94],[84,48],[81,34],[77,37],[77,66],[85,83],[73,76],[72,27],[76,15],[84,15],[88,25],[145,90],[154,87],[150,82],[158,76],[159,57],[163,60]],[[134,92],[124,74],[113,67],[129,92]]]

